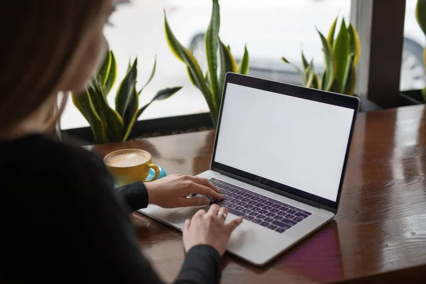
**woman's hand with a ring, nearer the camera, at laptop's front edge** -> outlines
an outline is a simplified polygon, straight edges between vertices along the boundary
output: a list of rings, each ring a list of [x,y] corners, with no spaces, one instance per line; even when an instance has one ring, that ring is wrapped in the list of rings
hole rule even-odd
[[[190,251],[192,246],[207,244],[223,256],[232,231],[243,222],[243,217],[239,217],[226,225],[227,214],[228,209],[212,204],[209,212],[200,209],[191,220],[187,219],[183,228],[185,251]]]

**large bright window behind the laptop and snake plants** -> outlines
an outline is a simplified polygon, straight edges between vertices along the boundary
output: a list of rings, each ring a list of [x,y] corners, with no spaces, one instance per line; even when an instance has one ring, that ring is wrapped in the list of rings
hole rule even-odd
[[[141,102],[148,102],[159,89],[183,86],[170,99],[153,103],[139,118],[154,119],[209,111],[202,94],[188,80],[185,65],[174,57],[165,40],[165,9],[170,26],[180,42],[206,68],[204,32],[211,15],[211,0],[122,1],[111,17],[113,26],[105,28],[111,50],[118,62],[121,80],[129,59],[138,57],[138,82],[141,87],[151,74],[155,55],[158,56],[154,80],[141,94]],[[317,72],[324,63],[322,45],[315,26],[327,36],[337,15],[349,21],[351,0],[219,0],[221,5],[222,41],[229,44],[239,60],[247,45],[251,59],[249,75],[282,82],[300,84],[300,77],[288,60],[301,65],[300,50],[308,60],[314,58]],[[339,25],[337,26],[339,28]],[[108,97],[114,104],[118,83]],[[88,126],[80,112],[69,102],[62,118],[62,129]]]

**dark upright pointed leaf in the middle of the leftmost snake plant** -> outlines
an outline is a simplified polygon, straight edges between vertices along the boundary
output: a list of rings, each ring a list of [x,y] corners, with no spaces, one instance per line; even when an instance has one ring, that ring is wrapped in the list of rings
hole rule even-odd
[[[136,77],[138,76],[138,58],[133,62],[133,65],[129,72],[127,73],[124,80],[121,82],[119,90],[116,94],[116,111],[120,114],[121,117],[124,117],[126,114],[126,109],[129,107],[129,103],[133,97],[134,88],[136,85]]]

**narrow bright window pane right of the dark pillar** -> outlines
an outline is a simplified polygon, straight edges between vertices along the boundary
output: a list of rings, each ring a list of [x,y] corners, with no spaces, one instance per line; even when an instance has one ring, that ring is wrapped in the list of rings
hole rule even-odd
[[[425,34],[415,18],[417,0],[406,0],[403,62],[401,65],[400,89],[422,89],[425,87],[423,49]]]

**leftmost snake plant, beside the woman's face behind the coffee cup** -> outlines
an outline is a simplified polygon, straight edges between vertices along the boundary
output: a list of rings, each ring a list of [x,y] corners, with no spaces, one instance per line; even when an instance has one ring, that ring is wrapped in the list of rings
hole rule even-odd
[[[75,107],[90,124],[94,143],[126,141],[138,117],[152,102],[167,99],[182,88],[162,89],[155,94],[151,102],[139,108],[139,95],[153,80],[156,62],[155,58],[151,76],[139,91],[136,88],[138,59],[136,58],[133,64],[129,64],[126,76],[121,81],[116,93],[115,109],[110,107],[107,102],[107,96],[116,81],[117,73],[117,63],[112,51],[107,53],[101,69],[89,82],[89,87],[82,93],[71,94]]]

